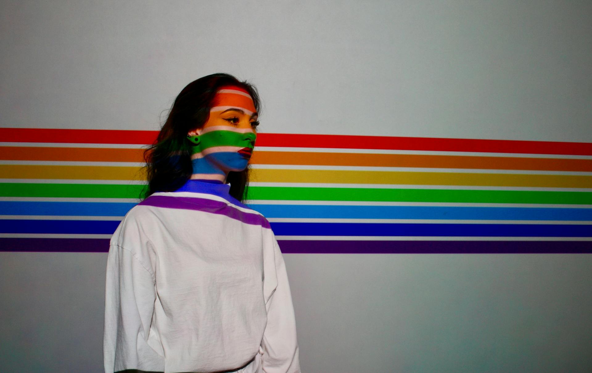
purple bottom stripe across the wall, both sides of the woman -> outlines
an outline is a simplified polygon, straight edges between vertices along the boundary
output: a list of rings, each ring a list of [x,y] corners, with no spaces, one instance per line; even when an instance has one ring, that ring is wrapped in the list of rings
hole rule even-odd
[[[581,254],[586,241],[305,241],[279,240],[283,253]],[[0,252],[108,252],[109,239],[0,238]]]

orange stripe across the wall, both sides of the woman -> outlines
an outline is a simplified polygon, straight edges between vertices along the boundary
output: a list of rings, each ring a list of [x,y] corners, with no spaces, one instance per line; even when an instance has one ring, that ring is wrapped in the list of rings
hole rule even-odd
[[[143,149],[0,147],[2,160],[143,162]],[[592,172],[592,159],[480,157],[321,152],[253,152],[254,165],[382,166]]]

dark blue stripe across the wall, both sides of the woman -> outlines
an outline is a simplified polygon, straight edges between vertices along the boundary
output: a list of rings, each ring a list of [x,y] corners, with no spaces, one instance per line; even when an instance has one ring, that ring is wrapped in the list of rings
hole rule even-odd
[[[119,221],[1,220],[0,233],[112,234]],[[281,236],[591,237],[592,226],[570,224],[271,223]]]

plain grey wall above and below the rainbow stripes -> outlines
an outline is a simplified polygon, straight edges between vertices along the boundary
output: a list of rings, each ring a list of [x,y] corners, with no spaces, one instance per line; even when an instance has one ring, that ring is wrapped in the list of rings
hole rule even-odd
[[[255,83],[262,131],[592,142],[584,2],[2,1],[2,127],[156,130]],[[0,253],[0,371],[100,371],[104,253]],[[305,372],[592,370],[590,255],[285,255]]]

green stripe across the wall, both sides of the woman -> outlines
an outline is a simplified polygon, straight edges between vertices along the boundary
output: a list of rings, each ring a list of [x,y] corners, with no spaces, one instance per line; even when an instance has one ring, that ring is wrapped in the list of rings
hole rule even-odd
[[[0,197],[138,198],[144,185],[0,183]],[[592,192],[249,186],[249,200],[592,204]]]

